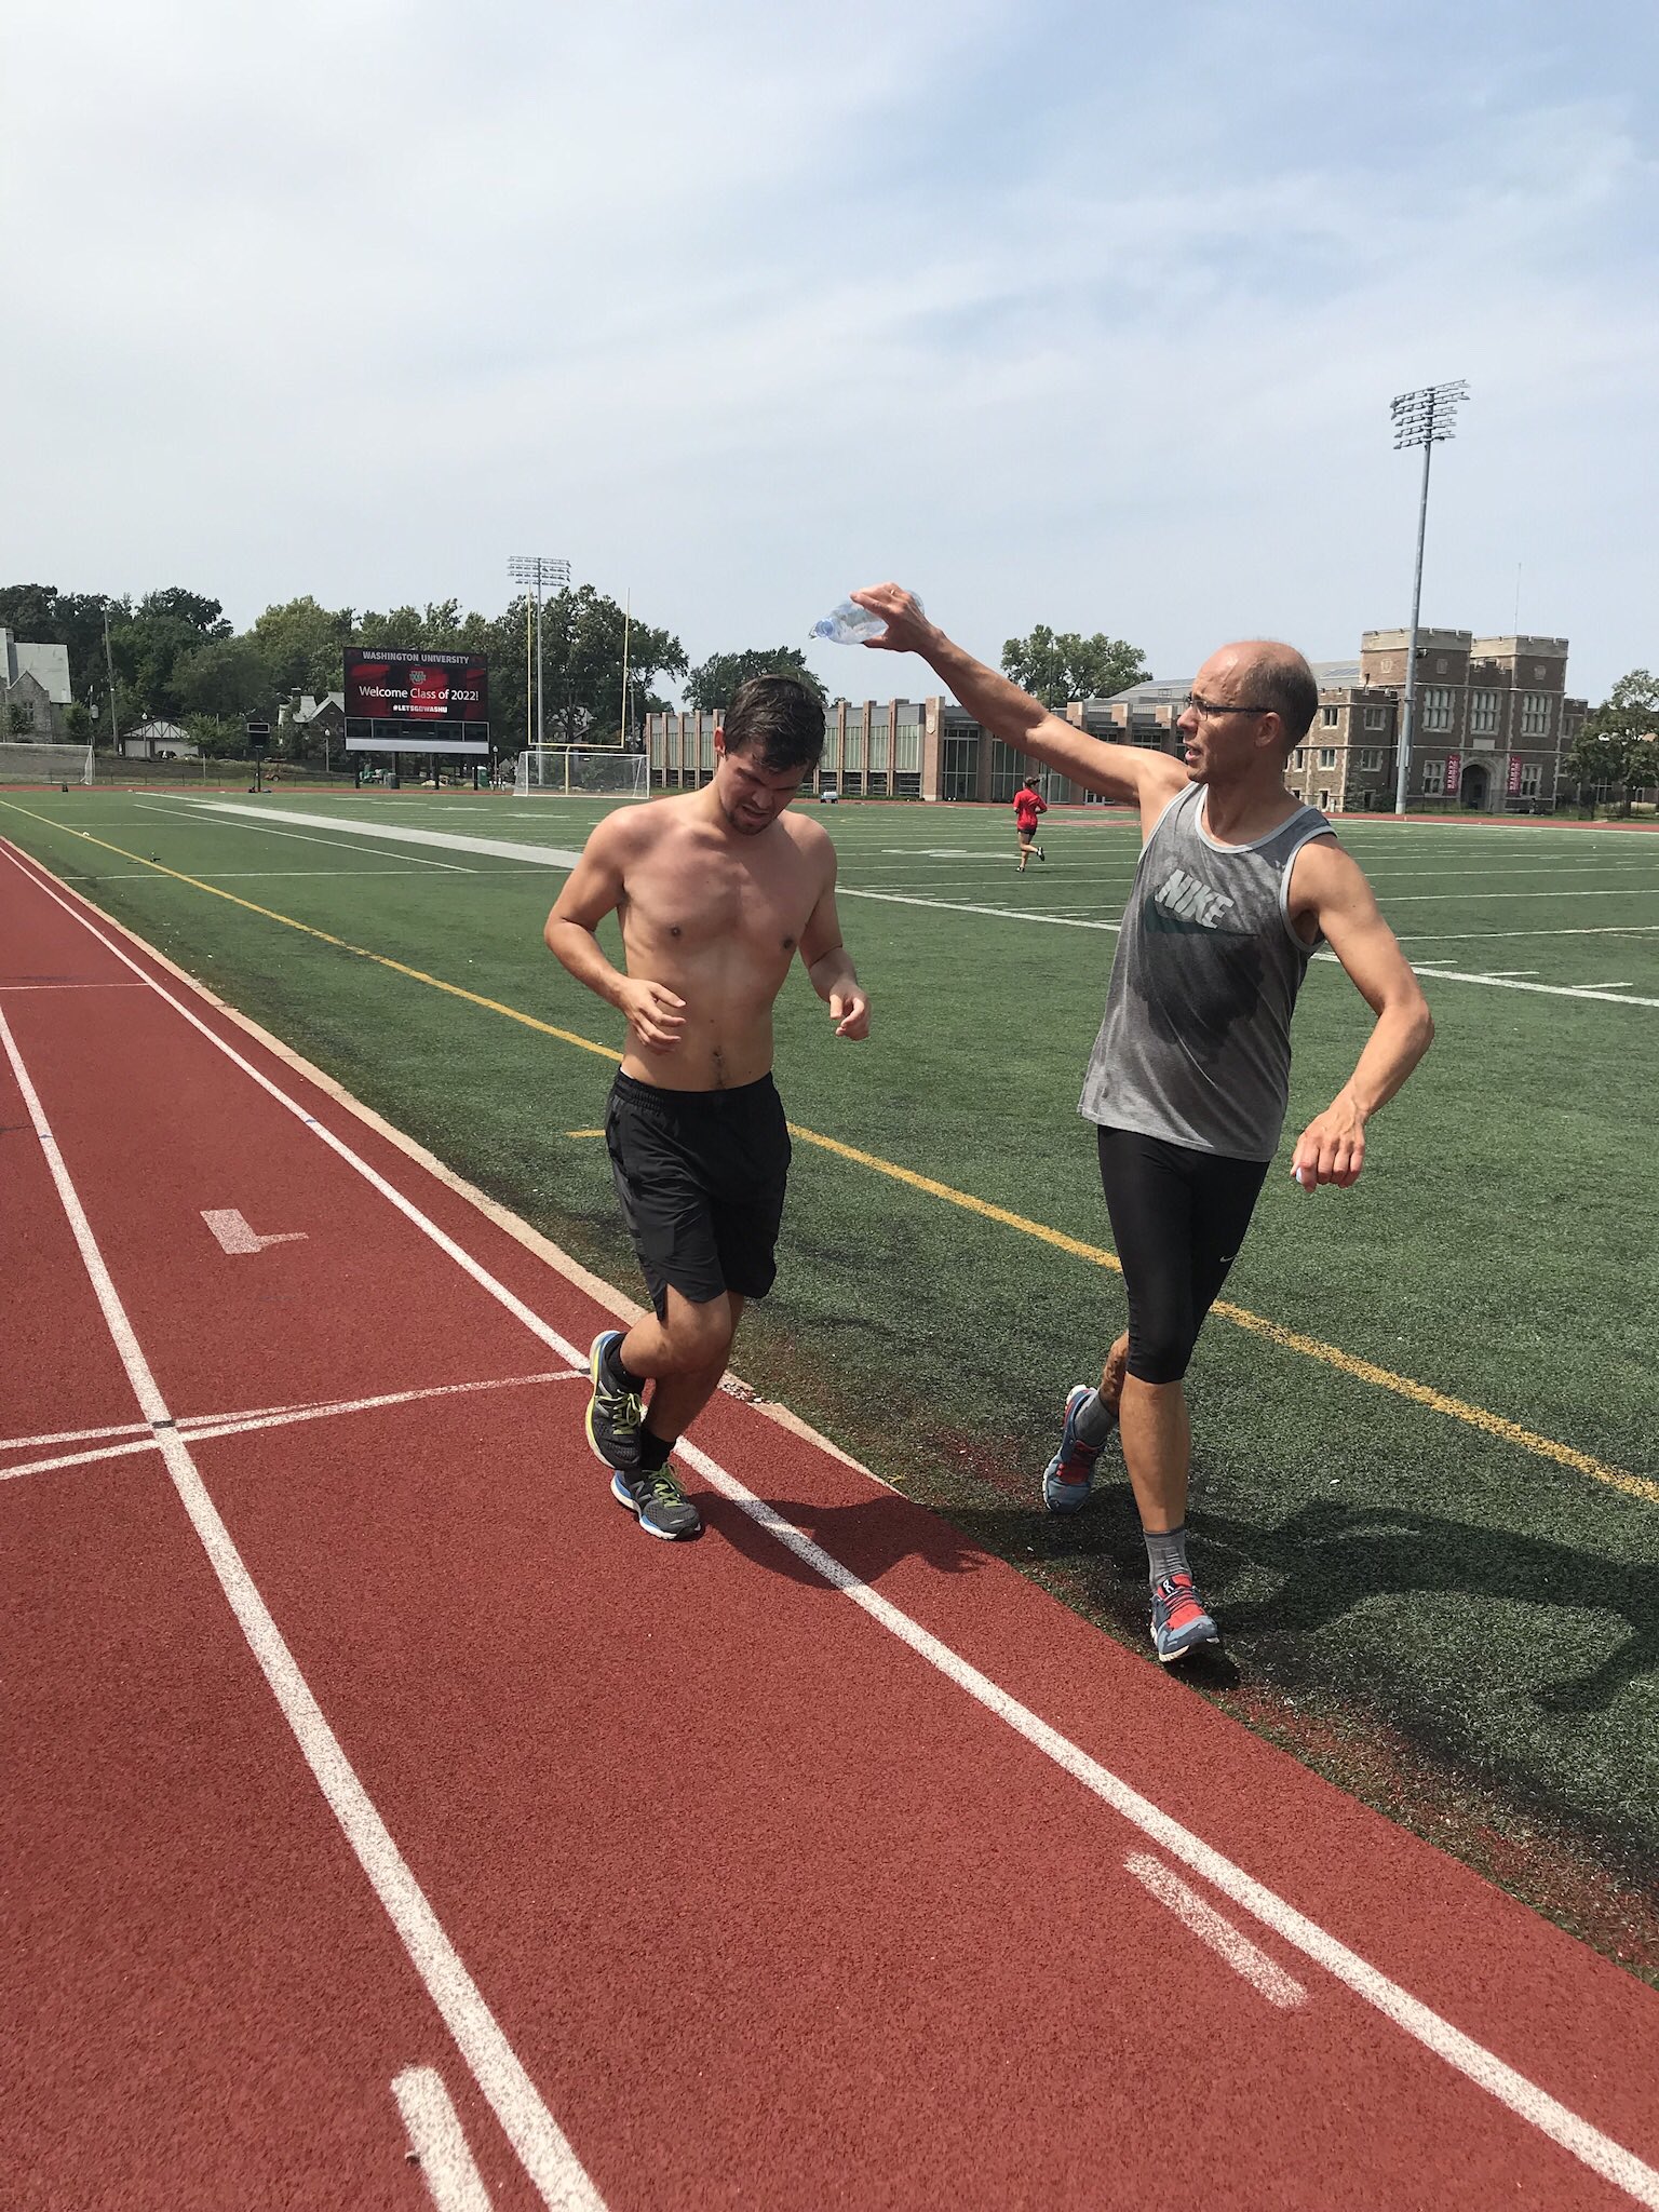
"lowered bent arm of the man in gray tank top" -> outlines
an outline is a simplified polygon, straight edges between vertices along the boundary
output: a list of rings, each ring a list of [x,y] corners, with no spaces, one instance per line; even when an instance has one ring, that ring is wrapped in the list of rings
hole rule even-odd
[[[1376,1015],[1354,1073],[1325,1113],[1296,1139],[1292,1172],[1303,1190],[1340,1183],[1347,1190],[1365,1166],[1365,1124],[1387,1106],[1433,1042],[1433,1015],[1422,984],[1383,920],[1376,894],[1358,863],[1318,838],[1292,865],[1290,911],[1312,918],[1347,969],[1354,989]]]

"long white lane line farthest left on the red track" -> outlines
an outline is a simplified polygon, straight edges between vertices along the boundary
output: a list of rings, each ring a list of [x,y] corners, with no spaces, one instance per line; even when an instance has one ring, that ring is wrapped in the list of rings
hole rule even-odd
[[[564,2130],[542,2104],[540,2090],[502,2033],[500,2022],[484,2004],[478,1984],[467,1973],[456,1947],[449,1942],[442,1922],[420,1889],[420,1882],[414,1878],[403,1854],[392,1840],[392,1829],[380,1818],[374,1798],[358,1781],[338,1736],[327,1725],[323,1708],[316,1703],[310,1683],[294,1663],[294,1655],[288,1650],[281,1628],[272,1619],[265,1599],[259,1595],[259,1588],[254,1586],[254,1579],[230,1537],[230,1531],[219,1517],[219,1509],[208,1495],[197,1464],[190,1458],[190,1447],[173,1425],[161,1389],[148,1360],[144,1358],[144,1349],[139,1347],[137,1332],[133,1329],[126,1307],[122,1305],[122,1296],[115,1290],[108,1267],[104,1265],[104,1254],[97,1248],[91,1221],[86,1219],[86,1210],[69,1175],[64,1155],[58,1148],[46,1110],[40,1104],[40,1093],[35,1091],[29,1068],[18,1053],[4,1013],[0,1013],[0,1046],[4,1046],[18,1088],[22,1091],[29,1108],[29,1117],[35,1124],[40,1148],[46,1155],[51,1179],[58,1186],[58,1199],[69,1217],[69,1228],[75,1237],[82,1265],[86,1267],[93,1294],[104,1312],[104,1325],[108,1327],[122,1365],[126,1367],[133,1396],[139,1402],[139,1411],[155,1429],[155,1438],[161,1447],[168,1473],[173,1475],[179,1502],[190,1515],[190,1524],[201,1540],[201,1548],[208,1553],[212,1571],[219,1577],[219,1588],[226,1593],[230,1610],[237,1615],[241,1632],[248,1639],[248,1648],[252,1650],[261,1674],[270,1683],[270,1692],[276,1699],[283,1719],[294,1732],[294,1741],[301,1747],[305,1765],[316,1776],[334,1818],[341,1823],[347,1843],[356,1851],[358,1865],[367,1874],[374,1893],[380,1898],[380,1905],[403,1938],[409,1962],[425,1982],[427,1995],[438,2006],[445,2026],[453,2035],[460,2055],[467,2059],[473,2079],[489,2099],[489,2106],[500,2119],[513,2150],[522,2159],[524,2170],[540,2190],[542,2201],[560,2208],[560,2212],[604,2212],[599,2192],[588,2181],[588,2174],[564,2137]]]

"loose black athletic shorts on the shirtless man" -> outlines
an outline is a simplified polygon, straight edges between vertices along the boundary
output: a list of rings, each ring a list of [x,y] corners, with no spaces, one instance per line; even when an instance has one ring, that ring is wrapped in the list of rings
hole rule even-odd
[[[659,1321],[670,1287],[692,1305],[728,1290],[768,1294],[790,1177],[790,1130],[770,1075],[739,1091],[659,1091],[617,1075],[604,1144]]]

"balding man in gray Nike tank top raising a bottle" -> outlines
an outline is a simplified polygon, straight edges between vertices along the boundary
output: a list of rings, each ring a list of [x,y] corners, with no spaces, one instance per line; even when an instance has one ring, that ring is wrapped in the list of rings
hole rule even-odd
[[[1141,814],[1141,860],[1079,1102],[1097,1126],[1128,1329],[1099,1387],[1079,1383],[1066,1398],[1042,1495],[1051,1513],[1079,1511],[1119,1429],[1146,1535],[1152,1644],[1168,1663],[1219,1641],[1188,1562],[1183,1376],[1279,1148],[1307,960],[1327,942],[1376,1026],[1296,1141],[1303,1190],[1356,1181],[1365,1124],[1429,1048],[1429,1006],[1358,865],[1325,816],[1285,790],[1285,761],[1318,706],[1301,653],[1261,639],[1212,653],[1179,721],[1177,761],[1084,737],[951,644],[898,584],[854,599],[887,624],[872,648],[918,653],[982,728]]]

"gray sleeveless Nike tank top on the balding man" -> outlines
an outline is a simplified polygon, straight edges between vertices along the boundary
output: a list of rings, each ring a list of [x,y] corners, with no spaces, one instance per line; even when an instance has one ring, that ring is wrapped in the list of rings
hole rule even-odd
[[[1290,922],[1290,863],[1332,825],[1296,807],[1254,845],[1203,827],[1203,785],[1141,849],[1077,1110],[1194,1152],[1272,1159],[1290,1097],[1290,1018],[1314,945]]]

